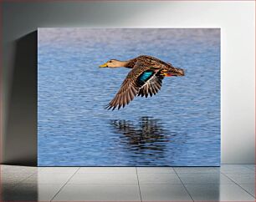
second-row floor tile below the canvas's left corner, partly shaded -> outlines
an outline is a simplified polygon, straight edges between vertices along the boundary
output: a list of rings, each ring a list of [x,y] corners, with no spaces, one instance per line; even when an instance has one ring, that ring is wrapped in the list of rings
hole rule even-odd
[[[64,184],[73,174],[51,174],[39,173],[33,174],[28,179],[22,181],[22,184]]]

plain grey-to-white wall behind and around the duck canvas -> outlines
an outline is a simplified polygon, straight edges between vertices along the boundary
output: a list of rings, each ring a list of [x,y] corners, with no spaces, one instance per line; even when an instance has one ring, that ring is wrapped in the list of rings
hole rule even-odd
[[[18,159],[33,162],[37,156],[36,130],[28,135],[23,133],[27,133],[29,129],[20,130],[26,127],[36,129],[34,123],[29,124],[31,121],[28,119],[21,127],[19,119],[14,120],[15,113],[10,114],[8,108],[12,101],[16,40],[37,30],[38,27],[125,27],[221,28],[222,163],[253,164],[255,154],[254,9],[253,1],[3,3],[2,162],[15,164]],[[35,93],[31,96],[36,98]],[[18,96],[15,102],[20,104]],[[35,112],[32,110],[30,113]],[[14,116],[11,124],[8,122],[10,116]],[[21,135],[23,138],[18,139],[17,137],[20,138]],[[26,156],[29,158],[26,159]]]

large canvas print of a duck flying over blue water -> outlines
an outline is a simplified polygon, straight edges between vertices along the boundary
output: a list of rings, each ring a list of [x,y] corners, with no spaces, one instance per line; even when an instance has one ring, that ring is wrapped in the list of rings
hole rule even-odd
[[[38,28],[38,166],[219,165],[219,28]]]

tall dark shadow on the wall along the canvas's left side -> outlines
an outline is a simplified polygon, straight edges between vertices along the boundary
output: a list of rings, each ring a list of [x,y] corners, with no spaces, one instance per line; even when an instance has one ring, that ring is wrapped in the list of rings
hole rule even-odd
[[[37,35],[15,43],[3,164],[37,165]]]

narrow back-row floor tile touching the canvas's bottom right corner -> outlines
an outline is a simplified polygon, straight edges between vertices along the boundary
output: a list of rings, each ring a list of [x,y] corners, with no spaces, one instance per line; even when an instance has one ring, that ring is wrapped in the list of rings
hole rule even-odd
[[[178,174],[190,173],[190,174],[202,174],[202,173],[219,173],[219,167],[174,167]]]

